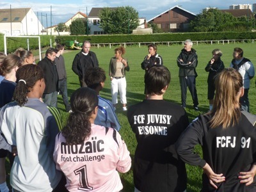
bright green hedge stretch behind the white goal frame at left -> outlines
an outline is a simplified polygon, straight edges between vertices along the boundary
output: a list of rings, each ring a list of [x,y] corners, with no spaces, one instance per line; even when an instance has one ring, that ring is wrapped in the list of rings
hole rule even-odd
[[[28,49],[28,39],[29,39],[29,49],[38,49],[38,38],[19,38],[19,37],[8,37],[6,38],[7,52],[14,52],[17,48],[22,47]],[[40,35],[41,47],[48,47],[54,44],[53,35]],[[4,35],[0,34],[0,51],[4,52]]]

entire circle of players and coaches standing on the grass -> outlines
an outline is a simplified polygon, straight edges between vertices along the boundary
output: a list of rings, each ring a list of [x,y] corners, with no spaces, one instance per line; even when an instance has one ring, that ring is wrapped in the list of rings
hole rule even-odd
[[[185,163],[204,170],[202,191],[255,191],[256,116],[248,112],[253,65],[243,58],[241,48],[235,48],[231,68],[225,68],[222,52],[214,49],[205,67],[209,72],[209,112],[189,124],[187,87],[198,111],[198,60],[192,45],[186,40],[177,58],[181,106],[163,100],[171,77],[155,44],[148,45],[148,55],[141,63],[146,98],[129,108],[125,79],[129,65],[124,47],[116,48],[109,62],[112,103],[99,95],[106,73],[88,41],[72,63],[81,88],[72,93],[70,104],[62,45],[49,48],[38,65],[33,65],[34,57],[33,62],[24,64],[15,54],[4,56],[0,88],[10,83],[11,90],[8,96],[2,88],[0,92],[0,101],[5,100],[0,109],[0,166],[8,151],[16,155],[10,180],[13,191],[121,191],[118,172],[130,170],[131,157],[118,132],[118,91],[138,143],[134,191],[186,191]],[[59,90],[70,112],[64,127],[50,109],[57,107]],[[202,145],[203,157],[193,150],[197,144]],[[1,176],[0,190],[5,192],[8,188],[1,185]]]

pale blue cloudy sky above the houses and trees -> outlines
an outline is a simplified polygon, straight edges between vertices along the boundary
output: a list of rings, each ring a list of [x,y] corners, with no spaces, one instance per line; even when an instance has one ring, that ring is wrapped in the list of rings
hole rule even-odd
[[[74,3],[73,3],[74,2]],[[46,17],[48,20],[48,27],[51,26],[51,11],[52,11],[52,25],[59,22],[65,22],[77,12],[90,13],[93,7],[117,7],[117,6],[132,6],[139,13],[139,17],[144,17],[147,20],[163,13],[164,11],[179,5],[189,12],[198,14],[206,7],[216,7],[221,10],[228,9],[232,4],[253,4],[256,1],[230,1],[230,0],[1,0],[0,8],[32,8],[32,10],[43,20],[46,27]],[[52,8],[52,10],[51,10]],[[42,15],[42,16],[41,16]]]

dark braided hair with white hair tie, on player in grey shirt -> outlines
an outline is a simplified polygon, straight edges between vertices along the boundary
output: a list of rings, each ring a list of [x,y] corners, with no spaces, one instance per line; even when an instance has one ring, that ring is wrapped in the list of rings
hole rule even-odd
[[[13,93],[13,99],[19,104],[24,106],[28,102],[27,94],[29,90],[35,86],[36,81],[44,79],[44,72],[38,65],[28,64],[22,65],[16,72],[17,85]]]

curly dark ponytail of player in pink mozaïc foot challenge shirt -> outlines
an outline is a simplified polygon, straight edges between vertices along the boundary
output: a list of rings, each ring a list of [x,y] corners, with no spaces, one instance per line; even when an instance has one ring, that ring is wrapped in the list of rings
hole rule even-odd
[[[67,145],[79,145],[91,134],[90,116],[98,106],[98,96],[95,90],[82,87],[72,93],[70,104],[72,113],[67,120],[67,125],[61,131]]]

